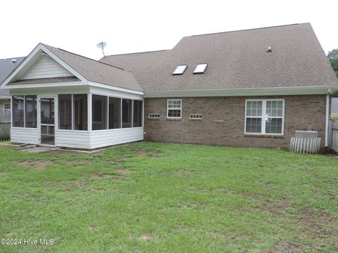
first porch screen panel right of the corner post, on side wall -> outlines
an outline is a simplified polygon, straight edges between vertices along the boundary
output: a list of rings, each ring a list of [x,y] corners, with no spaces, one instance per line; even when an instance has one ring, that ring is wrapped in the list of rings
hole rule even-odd
[[[107,100],[106,96],[92,96],[93,130],[108,129],[107,126]]]

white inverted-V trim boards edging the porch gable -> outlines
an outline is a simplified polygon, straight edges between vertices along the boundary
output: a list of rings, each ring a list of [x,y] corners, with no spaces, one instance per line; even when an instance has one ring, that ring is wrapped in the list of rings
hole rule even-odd
[[[43,50],[45,51],[49,56],[51,56],[51,58],[53,58],[54,60],[56,60],[57,63],[59,63],[61,66],[65,67],[66,70],[68,70],[70,73],[74,74],[75,77],[77,77],[78,79],[80,79],[82,82],[84,82],[84,84],[87,84],[87,79],[85,79],[84,77],[82,77],[81,74],[77,73],[75,70],[73,70],[72,67],[68,66],[67,64],[65,64],[63,62],[63,60],[59,59],[57,56],[54,55],[54,53],[51,53],[51,51],[49,51],[46,47],[44,47],[42,44],[38,44],[32,52],[30,52],[30,54],[25,58],[25,60],[23,60],[22,63],[20,63],[20,65],[4,80],[4,82],[2,83],[2,85],[4,86],[3,89],[6,89],[6,84],[8,84],[9,82],[11,82],[11,80],[15,77],[16,74],[18,74],[20,72],[20,70],[23,69],[23,67],[25,67],[25,65],[30,62],[30,60],[32,60],[32,58],[39,53],[39,50]]]

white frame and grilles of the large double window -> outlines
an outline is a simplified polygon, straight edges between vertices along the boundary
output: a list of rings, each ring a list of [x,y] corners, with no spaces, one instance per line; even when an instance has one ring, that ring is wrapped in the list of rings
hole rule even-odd
[[[262,102],[262,115],[261,117],[259,116],[246,116],[246,104],[249,101],[261,101]],[[282,117],[273,117],[269,116],[267,117],[266,115],[266,102],[268,101],[282,101],[283,106],[282,106]],[[245,100],[245,111],[244,111],[244,134],[246,135],[266,135],[266,136],[284,136],[284,113],[285,113],[285,99],[284,98],[272,98],[272,99],[246,99]],[[247,133],[246,132],[246,118],[250,117],[256,117],[256,118],[261,118],[262,119],[262,128],[261,128],[261,133]],[[267,118],[275,118],[275,119],[280,119],[282,118],[282,133],[281,134],[273,134],[273,133],[265,133],[265,122]]]

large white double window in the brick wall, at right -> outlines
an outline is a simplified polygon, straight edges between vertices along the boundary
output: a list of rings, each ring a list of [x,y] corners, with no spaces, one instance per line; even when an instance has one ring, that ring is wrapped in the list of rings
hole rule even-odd
[[[246,134],[283,134],[284,100],[246,100]]]

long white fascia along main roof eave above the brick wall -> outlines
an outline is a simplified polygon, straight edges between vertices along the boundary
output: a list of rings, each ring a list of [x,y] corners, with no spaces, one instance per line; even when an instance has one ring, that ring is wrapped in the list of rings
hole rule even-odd
[[[282,87],[258,89],[196,90],[196,91],[145,91],[145,98],[208,97],[208,96],[278,96],[316,95],[327,91],[338,91],[338,86],[322,87]]]

